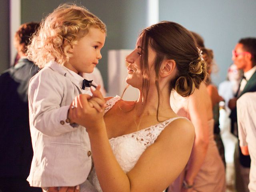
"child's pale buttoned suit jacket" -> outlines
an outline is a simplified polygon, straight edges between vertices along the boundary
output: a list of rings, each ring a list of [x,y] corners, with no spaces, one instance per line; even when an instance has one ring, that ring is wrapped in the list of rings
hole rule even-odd
[[[88,133],[84,127],[66,122],[75,96],[92,95],[90,88],[81,87],[82,80],[80,84],[54,61],[30,80],[31,186],[76,186],[86,180],[92,165]]]

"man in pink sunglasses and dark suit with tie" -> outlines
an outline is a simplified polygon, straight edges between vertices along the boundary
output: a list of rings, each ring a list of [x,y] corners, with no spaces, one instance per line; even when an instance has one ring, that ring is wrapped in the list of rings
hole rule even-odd
[[[231,109],[231,130],[233,130],[232,133],[238,137],[236,101],[244,93],[256,91],[256,38],[241,39],[232,51],[232,60],[238,69],[244,71],[244,76],[235,95],[236,97],[231,99],[228,103]],[[243,117],[239,116],[239,118]],[[247,146],[241,146],[240,148],[238,142],[235,151],[236,190],[239,192],[248,191],[250,156],[244,156],[242,154],[242,152],[246,150],[246,147]]]

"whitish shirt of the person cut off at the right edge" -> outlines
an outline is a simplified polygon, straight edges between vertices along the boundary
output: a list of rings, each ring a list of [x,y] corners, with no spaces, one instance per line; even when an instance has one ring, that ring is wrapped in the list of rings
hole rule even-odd
[[[256,192],[256,92],[243,94],[237,100],[237,122],[240,146],[248,146],[251,167],[250,192]]]

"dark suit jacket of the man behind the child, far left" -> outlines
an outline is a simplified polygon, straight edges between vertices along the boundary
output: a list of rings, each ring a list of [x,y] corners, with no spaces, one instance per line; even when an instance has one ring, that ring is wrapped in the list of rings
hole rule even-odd
[[[28,59],[0,76],[0,177],[29,174],[33,156],[28,120],[28,83],[38,67]]]

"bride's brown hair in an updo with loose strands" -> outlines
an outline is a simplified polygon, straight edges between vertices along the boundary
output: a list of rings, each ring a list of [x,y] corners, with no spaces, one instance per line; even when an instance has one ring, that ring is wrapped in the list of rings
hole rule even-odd
[[[174,88],[183,97],[191,95],[195,88],[206,77],[206,62],[191,32],[175,22],[162,21],[154,24],[141,33],[142,50],[141,69],[143,76],[142,92],[148,93],[148,44],[156,52],[154,68],[156,72],[156,87],[159,99],[159,70],[164,59],[176,62],[177,74],[170,81],[170,92]],[[147,94],[146,94],[147,100]]]

